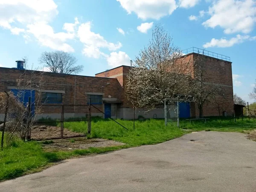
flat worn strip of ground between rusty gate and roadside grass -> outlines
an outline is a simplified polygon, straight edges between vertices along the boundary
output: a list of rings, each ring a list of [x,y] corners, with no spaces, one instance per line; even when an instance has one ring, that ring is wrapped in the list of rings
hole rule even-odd
[[[105,139],[87,139],[86,137],[78,137],[72,139],[52,140],[53,143],[43,144],[46,151],[55,150],[73,150],[73,149],[88,149],[90,147],[111,147],[125,145],[124,143],[105,140]],[[44,142],[42,142],[44,143]]]

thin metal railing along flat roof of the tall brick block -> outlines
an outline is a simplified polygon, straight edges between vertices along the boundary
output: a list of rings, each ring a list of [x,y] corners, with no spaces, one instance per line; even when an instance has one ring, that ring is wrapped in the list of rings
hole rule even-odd
[[[211,51],[207,51],[205,49],[200,49],[200,48],[197,48],[197,47],[190,47],[188,49],[182,50],[182,52],[185,55],[194,52],[194,53],[198,53],[200,55],[206,55],[206,56],[217,58],[217,59],[221,59],[221,60],[224,60],[224,61],[230,61],[230,57],[228,57],[226,55],[221,55],[221,54],[218,54],[218,53],[215,53],[215,52],[211,52]]]

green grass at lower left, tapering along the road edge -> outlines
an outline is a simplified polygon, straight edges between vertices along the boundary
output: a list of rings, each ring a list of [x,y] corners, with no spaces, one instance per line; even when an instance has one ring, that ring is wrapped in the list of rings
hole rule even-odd
[[[121,147],[119,147],[121,148]],[[114,151],[118,147],[89,148],[86,150],[46,152],[39,142],[16,141],[15,145],[0,151],[0,181],[26,173],[38,172],[52,163],[70,157]]]

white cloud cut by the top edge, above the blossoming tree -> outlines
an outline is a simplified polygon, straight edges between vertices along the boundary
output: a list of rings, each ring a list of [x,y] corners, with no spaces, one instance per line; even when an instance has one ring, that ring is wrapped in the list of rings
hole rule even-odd
[[[160,19],[171,15],[177,8],[175,0],[117,0],[128,14],[134,12],[139,18]]]

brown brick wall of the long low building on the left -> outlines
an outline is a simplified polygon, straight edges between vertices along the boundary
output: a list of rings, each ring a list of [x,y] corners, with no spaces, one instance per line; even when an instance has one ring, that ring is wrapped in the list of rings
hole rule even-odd
[[[37,74],[37,77],[39,77],[42,72],[37,71],[34,74]],[[17,87],[17,80],[24,79],[25,77],[26,81],[29,81],[31,72],[27,70],[25,76],[24,70],[0,67],[0,92],[4,90],[9,91],[10,89],[7,88],[8,86]],[[37,80],[38,79],[35,81]],[[108,97],[111,95],[112,98],[117,98],[119,100],[122,98],[122,95],[119,93],[119,90],[122,89],[122,87],[120,86],[117,79],[113,78],[44,73],[41,81],[43,82],[41,87],[43,90],[65,91],[65,93],[62,94],[61,104],[63,105],[87,105],[86,92],[104,93],[104,96],[102,97]],[[33,86],[33,88],[34,87],[35,86]],[[41,104],[41,101],[39,104]],[[98,107],[100,110],[103,110],[102,105]],[[46,108],[49,109],[49,113],[55,113],[55,111],[57,113],[57,111],[59,111],[58,107],[52,108],[52,110],[49,107]],[[96,113],[97,111],[92,112]]]

